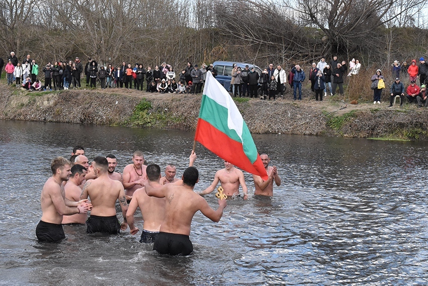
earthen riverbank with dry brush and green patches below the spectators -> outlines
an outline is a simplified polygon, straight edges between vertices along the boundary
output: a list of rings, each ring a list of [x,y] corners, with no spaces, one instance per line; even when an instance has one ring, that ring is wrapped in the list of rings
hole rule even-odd
[[[237,99],[252,133],[427,140],[428,110],[415,104],[388,108],[346,103],[337,96],[316,102]],[[126,89],[27,92],[0,85],[0,119],[194,130],[201,96],[152,94]]]

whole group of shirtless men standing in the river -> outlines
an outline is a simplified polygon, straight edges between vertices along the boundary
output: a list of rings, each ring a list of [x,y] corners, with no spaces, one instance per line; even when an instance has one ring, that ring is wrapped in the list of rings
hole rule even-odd
[[[260,158],[268,179],[253,175],[254,195],[273,196],[273,182],[279,186],[281,180],[276,167],[269,166],[268,155],[262,153]],[[98,156],[89,164],[84,149],[77,146],[70,160],[56,157],[51,162],[52,176],[42,189],[42,218],[36,227],[36,236],[40,242],[59,243],[65,238],[62,225],[85,223],[87,233],[118,234],[129,226],[130,233],[135,235],[139,229],[135,226],[134,214],[139,208],[144,220],[141,243],[154,243],[153,249],[161,254],[188,255],[193,251],[189,235],[195,213],[200,210],[211,221],[219,222],[227,205],[225,199],[219,199],[219,207],[214,210],[203,195],[215,190],[220,182],[228,197],[240,196],[241,186],[243,198],[248,198],[243,172],[227,161],[209,187],[194,192],[199,177],[193,167],[195,160],[196,154],[192,151],[189,167],[180,180],[175,177],[175,165],[168,164],[162,177],[158,165],[147,166],[142,152],[135,151],[132,164],[127,165],[121,175],[115,171],[114,155]],[[122,210],[122,223],[116,217],[117,201]]]

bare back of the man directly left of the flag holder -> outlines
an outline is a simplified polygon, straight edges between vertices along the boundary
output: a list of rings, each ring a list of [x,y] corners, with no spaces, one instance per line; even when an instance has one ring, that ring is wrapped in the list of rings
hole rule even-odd
[[[135,190],[132,200],[136,199],[144,220],[142,228],[159,232],[165,218],[165,198],[148,196],[144,187]]]

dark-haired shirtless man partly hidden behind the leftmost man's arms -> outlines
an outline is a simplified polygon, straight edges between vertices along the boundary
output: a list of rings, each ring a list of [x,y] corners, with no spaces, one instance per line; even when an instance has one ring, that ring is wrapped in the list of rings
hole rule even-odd
[[[79,187],[85,180],[86,169],[82,165],[76,164],[72,167],[72,176],[64,186],[65,198],[70,201],[79,201],[82,189]],[[86,213],[76,213],[76,215],[64,216],[62,224],[85,224],[88,215]]]

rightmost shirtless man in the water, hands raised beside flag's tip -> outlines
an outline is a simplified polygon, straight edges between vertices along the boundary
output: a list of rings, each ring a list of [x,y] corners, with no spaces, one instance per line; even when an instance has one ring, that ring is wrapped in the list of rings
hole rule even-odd
[[[276,167],[268,167],[269,165],[269,156],[266,153],[260,154],[261,162],[263,163],[264,168],[267,172],[267,180],[263,181],[260,176],[253,175],[255,195],[264,195],[264,196],[273,196],[273,181],[277,186],[281,185],[281,178],[279,178]]]

